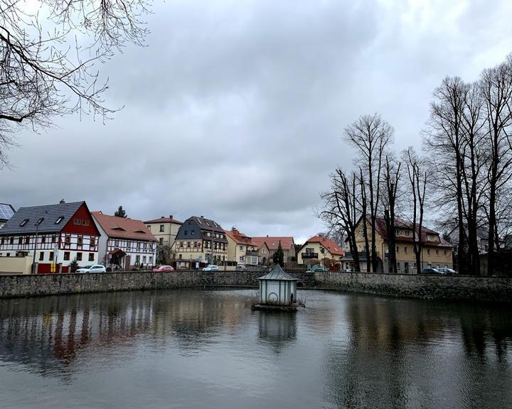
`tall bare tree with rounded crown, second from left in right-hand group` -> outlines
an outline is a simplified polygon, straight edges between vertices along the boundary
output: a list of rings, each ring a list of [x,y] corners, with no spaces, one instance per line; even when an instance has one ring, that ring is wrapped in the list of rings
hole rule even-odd
[[[356,163],[365,177],[364,190],[365,195],[367,193],[369,197],[368,208],[370,210],[370,256],[372,271],[375,273],[379,269],[375,225],[380,201],[383,158],[388,144],[393,141],[393,127],[379,114],[363,115],[345,129],[345,136],[358,152]],[[363,222],[366,224],[366,218],[363,219]]]

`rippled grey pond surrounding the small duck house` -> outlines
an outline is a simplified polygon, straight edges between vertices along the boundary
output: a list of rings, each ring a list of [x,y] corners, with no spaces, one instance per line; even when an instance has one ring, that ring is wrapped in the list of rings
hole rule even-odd
[[[512,408],[506,305],[304,290],[0,300],[0,407]]]

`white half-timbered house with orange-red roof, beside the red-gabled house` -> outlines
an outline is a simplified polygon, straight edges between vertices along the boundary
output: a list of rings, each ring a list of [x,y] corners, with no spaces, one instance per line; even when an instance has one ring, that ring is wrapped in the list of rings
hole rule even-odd
[[[156,262],[156,238],[142,220],[92,212],[100,230],[100,262],[112,269],[151,268]]]

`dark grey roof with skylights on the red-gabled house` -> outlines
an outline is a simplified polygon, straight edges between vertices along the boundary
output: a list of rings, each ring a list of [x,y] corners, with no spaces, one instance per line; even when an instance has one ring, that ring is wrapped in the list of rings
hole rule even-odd
[[[59,203],[58,205],[44,205],[33,207],[20,207],[18,212],[0,229],[0,236],[13,234],[31,234],[36,232],[36,222],[43,218],[39,224],[39,233],[53,233],[63,229],[73,214],[85,202]],[[63,219],[55,224],[59,217]],[[20,224],[27,220],[23,226]]]

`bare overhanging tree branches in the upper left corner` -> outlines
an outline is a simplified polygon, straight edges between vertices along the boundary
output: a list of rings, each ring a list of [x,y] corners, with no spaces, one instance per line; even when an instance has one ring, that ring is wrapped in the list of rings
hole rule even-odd
[[[112,114],[95,67],[147,33],[146,0],[44,0],[35,13],[27,6],[0,7],[0,165],[21,127],[49,126],[72,112]]]

